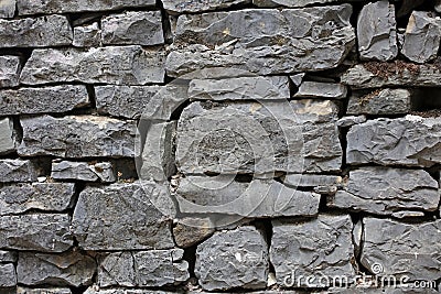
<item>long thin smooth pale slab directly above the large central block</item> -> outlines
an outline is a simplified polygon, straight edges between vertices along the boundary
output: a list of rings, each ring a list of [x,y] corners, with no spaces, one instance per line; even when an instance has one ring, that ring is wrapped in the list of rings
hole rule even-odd
[[[189,87],[192,100],[289,99],[288,77],[237,77],[193,79]]]

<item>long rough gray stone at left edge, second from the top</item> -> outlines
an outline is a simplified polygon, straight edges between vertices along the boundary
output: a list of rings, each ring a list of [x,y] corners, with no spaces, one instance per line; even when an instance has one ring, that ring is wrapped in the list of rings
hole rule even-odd
[[[73,32],[64,15],[46,15],[20,20],[0,19],[1,47],[68,46]]]

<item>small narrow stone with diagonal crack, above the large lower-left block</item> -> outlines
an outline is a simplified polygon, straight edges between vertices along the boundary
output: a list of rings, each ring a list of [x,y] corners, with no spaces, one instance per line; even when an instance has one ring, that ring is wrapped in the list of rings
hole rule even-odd
[[[116,181],[109,162],[53,162],[51,177],[54,179],[76,179],[112,183]]]

